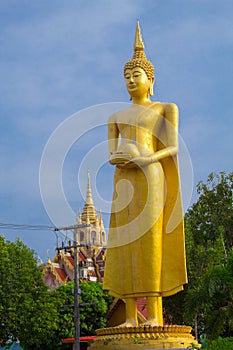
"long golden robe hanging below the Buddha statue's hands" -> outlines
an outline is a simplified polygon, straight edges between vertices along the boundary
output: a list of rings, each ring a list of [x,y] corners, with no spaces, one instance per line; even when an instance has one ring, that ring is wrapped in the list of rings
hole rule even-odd
[[[151,133],[143,116],[141,120],[136,125],[136,144],[140,124],[141,132]],[[159,134],[151,136],[155,151],[166,147],[164,130],[162,127]],[[104,289],[120,299],[169,296],[182,290],[185,283],[177,156],[143,168],[116,166]]]

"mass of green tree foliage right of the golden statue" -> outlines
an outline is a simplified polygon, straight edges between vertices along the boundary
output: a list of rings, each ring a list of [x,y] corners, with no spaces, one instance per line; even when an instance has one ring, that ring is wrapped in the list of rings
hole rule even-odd
[[[189,283],[165,305],[173,323],[183,320],[197,337],[214,339],[233,335],[233,173],[210,174],[197,193],[185,215]]]

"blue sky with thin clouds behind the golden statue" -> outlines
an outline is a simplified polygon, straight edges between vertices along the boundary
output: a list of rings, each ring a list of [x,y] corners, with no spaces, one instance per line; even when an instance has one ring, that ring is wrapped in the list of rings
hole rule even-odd
[[[69,117],[91,106],[108,103],[114,109],[112,102],[129,102],[122,69],[133,54],[137,19],[147,57],[155,66],[153,100],[179,106],[194,186],[211,172],[232,171],[231,0],[1,0],[0,222],[56,224],[40,194],[44,148],[60,131],[61,142],[49,162],[49,192],[53,165],[72,134],[65,128]],[[107,121],[110,107],[78,114],[77,135],[93,115],[102,124]],[[76,129],[72,131],[75,135]],[[105,127],[89,127],[70,145],[59,169],[74,219],[84,204],[90,159],[102,164],[97,175],[95,168],[91,172],[96,207],[103,209],[99,194],[107,203],[111,200],[113,169],[105,160],[106,138]],[[96,145],[103,148],[97,147],[89,159]],[[59,206],[59,198],[53,199]],[[74,223],[65,212],[59,215],[59,224]],[[107,227],[108,215],[104,217]],[[47,249],[54,255],[56,240],[50,231],[0,232],[10,240],[19,236],[43,259]]]

